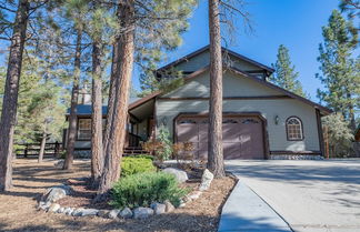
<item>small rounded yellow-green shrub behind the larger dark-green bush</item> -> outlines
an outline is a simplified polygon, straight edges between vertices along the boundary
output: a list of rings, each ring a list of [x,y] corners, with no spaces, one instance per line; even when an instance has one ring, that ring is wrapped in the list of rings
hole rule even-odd
[[[157,168],[152,164],[152,160],[142,155],[126,157],[121,162],[121,175],[128,176],[141,172],[153,172]]]

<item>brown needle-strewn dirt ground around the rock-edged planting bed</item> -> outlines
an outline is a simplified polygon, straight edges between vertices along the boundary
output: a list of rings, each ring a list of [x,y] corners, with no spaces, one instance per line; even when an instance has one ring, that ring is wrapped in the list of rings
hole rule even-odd
[[[13,189],[0,194],[0,231],[217,231],[221,206],[236,182],[231,178],[214,180],[198,200],[147,220],[74,218],[36,210],[47,188],[89,175],[89,161],[74,161],[71,172],[54,168],[54,162],[14,160]]]

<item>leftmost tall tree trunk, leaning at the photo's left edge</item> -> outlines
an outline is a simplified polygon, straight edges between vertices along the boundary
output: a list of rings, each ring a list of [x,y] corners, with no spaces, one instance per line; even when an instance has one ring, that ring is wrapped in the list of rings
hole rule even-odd
[[[0,121],[0,191],[8,191],[12,185],[12,143],[17,121],[18,92],[22,64],[23,46],[27,34],[30,3],[20,0],[13,23],[7,81]]]

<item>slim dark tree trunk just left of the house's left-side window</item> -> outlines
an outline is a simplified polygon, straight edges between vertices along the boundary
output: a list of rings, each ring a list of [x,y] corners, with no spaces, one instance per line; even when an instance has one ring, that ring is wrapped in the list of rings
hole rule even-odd
[[[66,161],[63,163],[64,170],[70,170],[73,163],[73,150],[77,138],[77,105],[78,105],[78,97],[79,97],[79,82],[80,82],[80,65],[81,65],[81,38],[82,31],[78,30],[77,34],[77,47],[76,47],[76,56],[74,56],[74,72],[73,72],[73,83],[71,91],[71,107],[70,107],[70,115],[69,115],[69,129],[68,129],[68,141],[67,141],[67,155]]]

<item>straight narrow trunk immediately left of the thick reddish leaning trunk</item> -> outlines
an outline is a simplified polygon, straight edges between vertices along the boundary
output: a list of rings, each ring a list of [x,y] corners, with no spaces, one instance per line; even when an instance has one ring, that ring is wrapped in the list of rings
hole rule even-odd
[[[103,167],[102,155],[102,103],[101,103],[101,48],[98,42],[92,46],[92,120],[91,120],[91,178],[92,185],[98,186]]]

